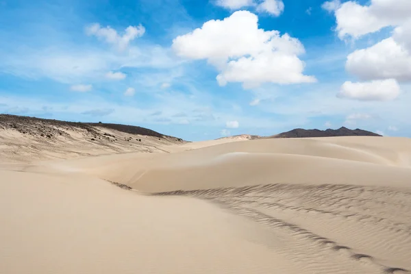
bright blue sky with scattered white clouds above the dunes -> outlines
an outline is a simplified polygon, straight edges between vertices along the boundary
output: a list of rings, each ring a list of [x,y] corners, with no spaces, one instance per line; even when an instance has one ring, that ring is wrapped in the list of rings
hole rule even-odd
[[[0,0],[0,113],[411,137],[410,92],[410,0]]]

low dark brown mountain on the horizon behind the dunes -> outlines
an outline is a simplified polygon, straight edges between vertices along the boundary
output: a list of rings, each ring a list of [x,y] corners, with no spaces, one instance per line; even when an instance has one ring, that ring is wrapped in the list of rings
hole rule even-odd
[[[309,137],[333,137],[333,136],[381,136],[374,132],[368,132],[363,129],[292,129],[289,132],[283,132],[266,138],[309,138]]]

